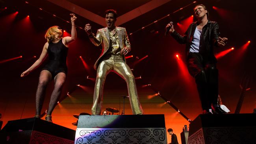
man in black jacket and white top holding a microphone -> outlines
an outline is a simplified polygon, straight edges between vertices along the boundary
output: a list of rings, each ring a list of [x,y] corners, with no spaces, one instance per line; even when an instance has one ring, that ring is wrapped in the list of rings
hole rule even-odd
[[[184,36],[177,33],[173,24],[167,24],[171,36],[180,44],[186,44],[186,63],[189,74],[195,78],[203,114],[226,113],[217,105],[218,70],[213,47],[225,46],[227,38],[219,37],[219,24],[209,20],[209,12],[203,4],[194,7],[197,22],[188,27]]]

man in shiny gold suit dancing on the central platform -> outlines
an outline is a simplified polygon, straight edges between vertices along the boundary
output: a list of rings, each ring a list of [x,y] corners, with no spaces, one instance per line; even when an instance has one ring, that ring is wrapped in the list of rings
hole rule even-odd
[[[99,115],[103,100],[103,87],[106,76],[113,71],[121,76],[127,83],[129,100],[133,114],[143,114],[139,102],[134,75],[130,67],[125,63],[125,55],[131,51],[131,45],[125,28],[115,26],[117,13],[113,9],[105,11],[106,28],[99,29],[94,35],[91,25],[85,25],[85,32],[90,41],[99,46],[102,44],[102,53],[96,61],[94,68],[97,70],[97,78],[93,96],[92,114]]]

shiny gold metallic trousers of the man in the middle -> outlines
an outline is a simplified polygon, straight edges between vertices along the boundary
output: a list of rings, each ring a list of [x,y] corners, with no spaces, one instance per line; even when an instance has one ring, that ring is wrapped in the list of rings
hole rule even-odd
[[[132,74],[130,67],[124,62],[121,56],[111,56],[103,59],[103,61],[99,64],[94,88],[93,107],[91,108],[92,114],[99,115],[101,112],[103,87],[106,76],[111,71],[117,73],[126,81],[132,113],[143,114],[143,110],[139,102],[134,75]]]

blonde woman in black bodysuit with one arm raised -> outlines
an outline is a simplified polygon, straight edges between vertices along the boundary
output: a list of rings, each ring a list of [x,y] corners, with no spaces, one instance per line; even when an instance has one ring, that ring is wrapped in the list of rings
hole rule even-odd
[[[62,30],[59,26],[50,27],[45,34],[47,42],[43,46],[43,51],[39,59],[37,59],[30,68],[21,74],[21,77],[28,75],[32,70],[37,68],[37,66],[41,65],[47,55],[49,55],[49,60],[40,73],[37,92],[35,95],[35,118],[40,118],[46,86],[51,80],[54,80],[54,90],[52,91],[49,107],[45,117],[45,120],[48,122],[52,122],[52,111],[58,102],[67,76],[66,60],[69,44],[76,39],[76,16],[74,14],[70,14],[70,16],[72,24],[71,37],[62,38]]]

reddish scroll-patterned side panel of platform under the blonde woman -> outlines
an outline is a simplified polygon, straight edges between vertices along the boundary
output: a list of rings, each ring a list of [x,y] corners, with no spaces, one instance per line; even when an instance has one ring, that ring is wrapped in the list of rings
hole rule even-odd
[[[38,131],[32,131],[30,144],[74,144],[74,141]]]

